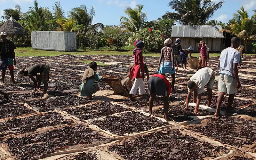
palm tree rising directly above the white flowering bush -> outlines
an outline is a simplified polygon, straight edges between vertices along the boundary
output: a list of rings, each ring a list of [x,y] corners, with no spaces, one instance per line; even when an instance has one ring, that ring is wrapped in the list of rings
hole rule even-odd
[[[131,7],[126,7],[125,13],[127,17],[122,16],[120,18],[121,28],[124,28],[128,31],[134,32],[139,31],[143,23],[147,19],[146,13],[142,12],[144,5],[138,4],[137,8],[132,9]]]

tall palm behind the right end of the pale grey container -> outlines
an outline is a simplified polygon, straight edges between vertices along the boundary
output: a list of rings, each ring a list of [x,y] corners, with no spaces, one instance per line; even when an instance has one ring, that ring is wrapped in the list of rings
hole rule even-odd
[[[76,21],[78,25],[84,25],[88,27],[92,24],[93,16],[95,16],[95,10],[93,7],[90,8],[88,13],[88,8],[83,4],[80,7],[72,8],[69,11],[69,17]]]

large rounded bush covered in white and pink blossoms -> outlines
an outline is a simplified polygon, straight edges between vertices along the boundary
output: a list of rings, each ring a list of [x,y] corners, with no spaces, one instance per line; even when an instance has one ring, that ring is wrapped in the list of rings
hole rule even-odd
[[[136,45],[136,43],[141,40],[145,44],[145,49],[147,51],[159,51],[164,45],[164,40],[166,36],[163,35],[159,30],[152,28],[141,29],[140,31],[133,32],[132,36],[128,38],[126,45]]]

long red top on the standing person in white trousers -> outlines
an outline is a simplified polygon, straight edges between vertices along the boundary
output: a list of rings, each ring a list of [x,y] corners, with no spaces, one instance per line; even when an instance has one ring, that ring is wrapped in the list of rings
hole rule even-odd
[[[133,55],[134,59],[134,66],[130,72],[130,77],[132,78],[144,78],[144,61],[143,61],[143,56],[142,56],[142,51],[137,50],[135,51],[135,54]],[[142,71],[140,71],[140,64],[142,66]],[[140,72],[142,72],[142,76],[140,76]]]

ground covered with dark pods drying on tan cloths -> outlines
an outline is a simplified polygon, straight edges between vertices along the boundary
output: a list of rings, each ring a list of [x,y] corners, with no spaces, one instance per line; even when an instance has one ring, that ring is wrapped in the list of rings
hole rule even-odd
[[[221,117],[226,124],[215,121],[213,116],[219,94],[218,57],[212,57],[208,62],[208,67],[216,72],[213,99],[211,107],[205,106],[205,89],[200,116],[193,116],[193,103],[189,104],[189,111],[182,110],[188,93],[187,82],[196,70],[180,67],[176,71],[176,91],[169,97],[169,116],[174,121],[165,121],[163,105],[159,108],[156,103],[154,114],[149,116],[149,96],[130,100],[115,95],[104,82],[99,83],[100,91],[93,95],[94,100],[80,97],[81,78],[89,67],[81,61],[92,60],[108,64],[98,66],[100,74],[117,76],[120,80],[128,74],[128,65],[133,62],[130,55],[17,58],[14,75],[19,69],[39,62],[49,64],[50,98],[42,99],[40,94],[32,93],[34,84],[28,77],[15,78],[17,84],[11,85],[10,72],[6,71],[6,85],[0,86],[0,90],[10,96],[6,98],[0,94],[0,159],[256,158],[256,126],[253,123],[256,112],[253,105],[256,102],[256,56],[244,56],[242,68],[238,67],[242,87],[232,105],[235,113]],[[144,61],[149,74],[156,74],[158,58],[145,56]],[[172,80],[170,75],[166,77]],[[146,78],[144,84],[148,92]],[[222,114],[227,107],[227,96],[221,105]],[[162,97],[158,99],[163,103]],[[232,127],[236,132],[229,132]],[[226,136],[233,140],[226,140]]]

